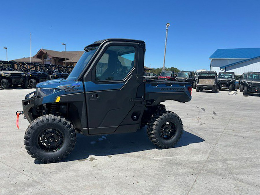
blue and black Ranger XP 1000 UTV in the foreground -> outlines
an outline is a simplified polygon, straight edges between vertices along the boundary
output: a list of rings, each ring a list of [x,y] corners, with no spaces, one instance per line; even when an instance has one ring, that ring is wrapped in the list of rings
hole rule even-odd
[[[129,133],[146,125],[156,146],[173,147],[183,124],[160,103],[190,101],[190,83],[143,81],[145,43],[140,40],[100,40],[84,50],[67,79],[39,83],[23,100],[31,123],[24,140],[28,153],[41,162],[60,161],[73,150],[76,132]]]

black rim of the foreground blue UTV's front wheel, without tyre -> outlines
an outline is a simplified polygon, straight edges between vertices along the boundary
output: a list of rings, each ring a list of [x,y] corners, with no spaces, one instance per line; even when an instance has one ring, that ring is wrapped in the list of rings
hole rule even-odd
[[[55,152],[60,150],[63,142],[63,134],[55,128],[45,129],[38,137],[38,145],[46,152]]]

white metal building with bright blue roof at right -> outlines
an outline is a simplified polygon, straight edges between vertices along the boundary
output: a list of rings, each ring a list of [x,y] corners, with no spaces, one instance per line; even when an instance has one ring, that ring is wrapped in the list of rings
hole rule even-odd
[[[260,48],[218,49],[210,57],[210,70],[218,72],[260,72]]]

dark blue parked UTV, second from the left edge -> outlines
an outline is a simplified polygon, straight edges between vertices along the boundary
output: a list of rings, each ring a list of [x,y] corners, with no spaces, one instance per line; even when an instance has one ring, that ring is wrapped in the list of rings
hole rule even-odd
[[[31,88],[36,88],[37,83],[47,81],[48,73],[42,68],[39,63],[20,62],[21,68],[27,75],[28,84]]]

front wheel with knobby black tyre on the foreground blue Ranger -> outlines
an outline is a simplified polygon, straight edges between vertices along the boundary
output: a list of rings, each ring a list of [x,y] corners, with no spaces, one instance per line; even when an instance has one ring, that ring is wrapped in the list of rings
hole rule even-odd
[[[29,155],[41,162],[56,162],[73,150],[76,133],[65,118],[44,115],[36,118],[25,131],[24,144]]]

